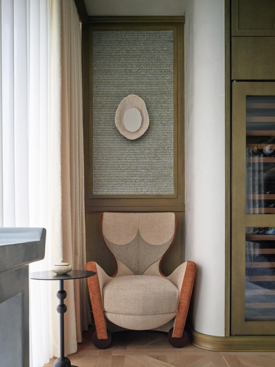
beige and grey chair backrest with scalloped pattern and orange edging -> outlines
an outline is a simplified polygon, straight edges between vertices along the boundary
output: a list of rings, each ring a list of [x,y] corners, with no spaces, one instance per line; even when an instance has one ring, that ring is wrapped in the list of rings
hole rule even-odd
[[[117,263],[114,276],[162,275],[162,258],[175,238],[175,213],[104,212],[100,226],[104,244]]]

